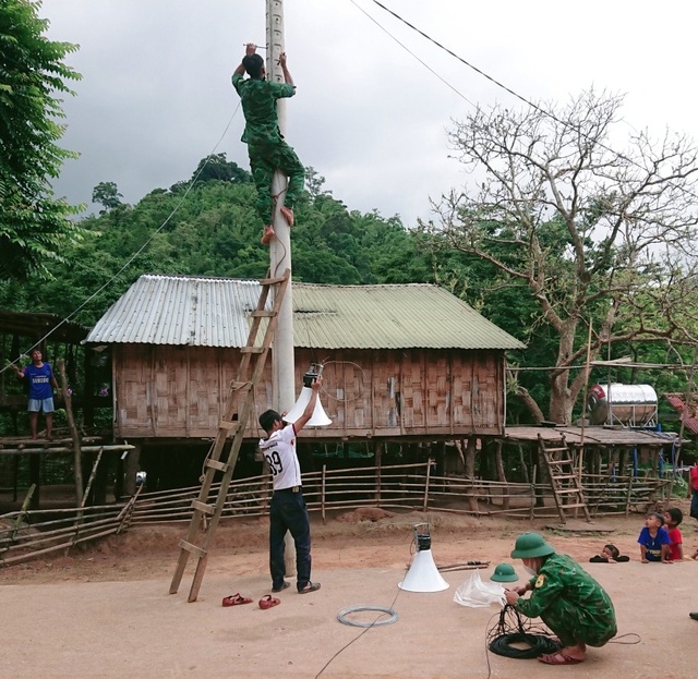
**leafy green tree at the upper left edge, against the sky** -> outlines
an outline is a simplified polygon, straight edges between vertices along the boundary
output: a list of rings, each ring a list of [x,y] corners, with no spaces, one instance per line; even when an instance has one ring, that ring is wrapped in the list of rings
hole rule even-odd
[[[64,126],[56,95],[73,94],[80,75],[63,63],[77,49],[43,35],[40,2],[3,0],[0,7],[0,278],[47,275],[67,243],[80,238],[70,220],[79,208],[55,199],[50,180],[75,154],[57,146]]]

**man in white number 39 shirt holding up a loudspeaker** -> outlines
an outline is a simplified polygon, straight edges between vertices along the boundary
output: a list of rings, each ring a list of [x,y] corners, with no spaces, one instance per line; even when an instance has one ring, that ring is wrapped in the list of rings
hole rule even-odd
[[[267,434],[266,438],[260,439],[260,450],[264,453],[274,477],[274,495],[269,505],[269,570],[273,592],[280,592],[290,586],[284,579],[286,531],[291,532],[296,543],[296,586],[299,594],[320,590],[320,583],[310,580],[310,519],[301,489],[296,436],[313,416],[321,386],[322,376],[318,375],[311,386],[313,393],[303,414],[293,424],[285,425],[281,415],[275,410],[267,410],[260,415],[260,426]]]

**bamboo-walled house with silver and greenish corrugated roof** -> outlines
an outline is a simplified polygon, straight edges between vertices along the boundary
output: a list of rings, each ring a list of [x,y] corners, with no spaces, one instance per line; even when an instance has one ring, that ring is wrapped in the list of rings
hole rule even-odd
[[[111,349],[115,435],[130,442],[216,435],[246,343],[255,280],[145,275],[87,342]],[[329,440],[501,435],[505,351],[524,345],[432,284],[293,283],[296,383],[324,364]],[[273,407],[272,365],[256,414]],[[248,423],[250,440],[261,432]]]

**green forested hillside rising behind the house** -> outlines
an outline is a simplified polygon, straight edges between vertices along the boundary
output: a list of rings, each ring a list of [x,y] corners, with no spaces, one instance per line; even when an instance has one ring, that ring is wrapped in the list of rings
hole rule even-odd
[[[92,326],[141,274],[257,279],[268,267],[268,248],[260,244],[254,184],[246,171],[222,154],[203,159],[192,178],[169,189],[154,189],[136,205],[122,203],[111,182],[97,184],[93,197],[101,206],[99,215],[80,220],[84,235],[63,250],[64,262],[46,263],[51,278],[0,283],[0,308],[50,312]],[[509,356],[514,365],[555,364],[557,341],[541,319],[530,289],[516,281],[503,283],[492,264],[454,248],[446,235],[430,233],[424,225],[406,228],[398,216],[351,210],[325,190],[324,179],[312,169],[296,219],[291,231],[294,280],[436,283],[527,342],[527,351]],[[551,256],[564,257],[564,231],[554,223],[547,228]],[[612,355],[630,351],[646,361],[667,357],[664,347],[638,343],[617,344]],[[607,375],[597,373],[595,379],[605,381]],[[642,376],[616,371],[612,378],[647,380],[658,390],[681,390],[685,385],[683,375],[662,371]],[[544,408],[550,373],[519,373],[510,387],[513,395],[525,388]],[[532,421],[518,399],[512,398],[507,410],[512,422]]]

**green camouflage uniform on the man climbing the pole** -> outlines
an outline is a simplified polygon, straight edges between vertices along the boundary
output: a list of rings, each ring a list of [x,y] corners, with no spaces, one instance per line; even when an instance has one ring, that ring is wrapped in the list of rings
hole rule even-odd
[[[257,213],[265,225],[270,225],[274,171],[281,170],[288,177],[284,205],[291,209],[303,189],[305,178],[305,170],[296,151],[284,141],[276,114],[276,100],[292,97],[296,87],[288,83],[244,78],[239,73],[232,76],[232,85],[242,100],[246,123],[242,142],[248,145],[252,178],[257,187]]]

